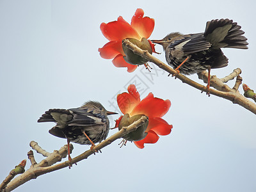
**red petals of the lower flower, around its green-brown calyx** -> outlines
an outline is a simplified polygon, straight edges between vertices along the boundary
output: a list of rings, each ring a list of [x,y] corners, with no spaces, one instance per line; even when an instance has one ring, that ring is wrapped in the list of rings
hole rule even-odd
[[[117,104],[122,113],[129,113],[130,116],[139,114],[148,116],[148,127],[145,131],[147,136],[143,140],[134,141],[134,144],[138,148],[144,148],[144,143],[156,143],[159,140],[158,135],[170,134],[173,126],[161,118],[168,112],[171,106],[170,100],[159,99],[152,93],[140,100],[140,93],[137,92],[134,84],[130,84],[127,90],[128,93],[117,95]],[[116,120],[115,127],[118,127],[121,119],[122,116]]]

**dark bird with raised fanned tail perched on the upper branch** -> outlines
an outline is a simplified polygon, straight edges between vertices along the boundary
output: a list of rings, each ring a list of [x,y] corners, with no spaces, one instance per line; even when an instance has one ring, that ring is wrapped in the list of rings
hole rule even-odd
[[[214,19],[206,23],[204,33],[183,35],[174,32],[161,40],[151,40],[163,46],[165,58],[176,74],[191,75],[209,70],[207,90],[210,87],[211,68],[228,65],[228,58],[221,48],[248,49],[247,38],[237,22]]]

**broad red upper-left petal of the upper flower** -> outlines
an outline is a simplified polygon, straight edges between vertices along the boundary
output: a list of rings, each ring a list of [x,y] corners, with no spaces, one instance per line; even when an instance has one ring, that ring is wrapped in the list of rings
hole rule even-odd
[[[100,24],[100,30],[109,41],[122,40],[128,37],[140,39],[140,35],[138,35],[137,31],[121,16],[108,24],[102,22],[102,24]]]

